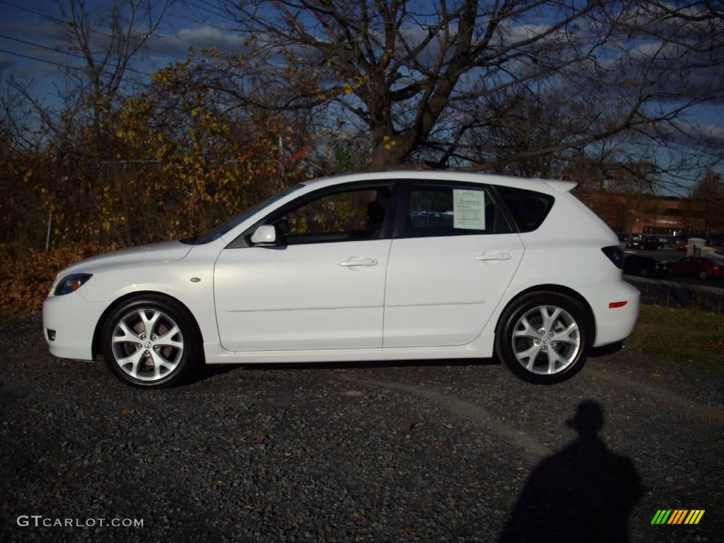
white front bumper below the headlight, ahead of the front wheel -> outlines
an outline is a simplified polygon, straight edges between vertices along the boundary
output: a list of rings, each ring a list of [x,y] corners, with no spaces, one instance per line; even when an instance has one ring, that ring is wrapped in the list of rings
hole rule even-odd
[[[58,358],[93,360],[93,333],[107,304],[89,302],[78,292],[51,295],[43,302],[43,337]],[[49,330],[55,331],[50,340]]]

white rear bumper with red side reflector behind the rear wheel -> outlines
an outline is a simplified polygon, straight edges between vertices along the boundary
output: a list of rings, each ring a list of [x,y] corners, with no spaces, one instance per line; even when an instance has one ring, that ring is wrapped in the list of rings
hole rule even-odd
[[[624,281],[581,292],[589,301],[596,320],[596,340],[593,347],[608,345],[625,339],[636,326],[639,318],[639,300],[641,292]],[[609,307],[610,303],[626,302],[620,307]]]

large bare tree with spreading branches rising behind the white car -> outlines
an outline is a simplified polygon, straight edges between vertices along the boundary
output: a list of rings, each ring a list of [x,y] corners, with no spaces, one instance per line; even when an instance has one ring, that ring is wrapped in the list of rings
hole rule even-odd
[[[366,133],[373,169],[424,162],[500,171],[538,157],[567,160],[611,138],[638,153],[675,143],[697,159],[721,159],[716,134],[689,116],[724,97],[720,4],[214,6],[245,35],[249,53],[234,56],[223,74],[216,67],[209,84],[243,106],[324,108]]]

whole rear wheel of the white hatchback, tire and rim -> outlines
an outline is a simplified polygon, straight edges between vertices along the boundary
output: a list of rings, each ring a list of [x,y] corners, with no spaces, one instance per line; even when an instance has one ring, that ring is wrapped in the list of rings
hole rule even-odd
[[[588,325],[581,304],[555,292],[532,292],[505,310],[497,355],[516,375],[536,384],[564,381],[586,361]]]

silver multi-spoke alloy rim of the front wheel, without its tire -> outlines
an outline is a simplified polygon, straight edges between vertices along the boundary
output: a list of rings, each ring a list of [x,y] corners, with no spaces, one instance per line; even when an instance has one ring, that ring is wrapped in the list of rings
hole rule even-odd
[[[176,322],[153,308],[135,309],[119,319],[112,342],[115,362],[126,374],[141,381],[158,381],[171,374],[184,349]]]

